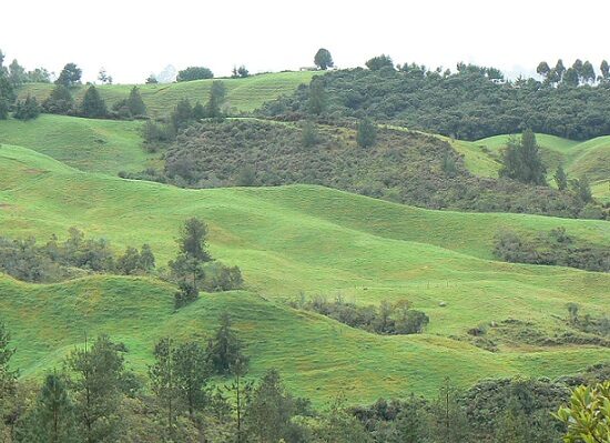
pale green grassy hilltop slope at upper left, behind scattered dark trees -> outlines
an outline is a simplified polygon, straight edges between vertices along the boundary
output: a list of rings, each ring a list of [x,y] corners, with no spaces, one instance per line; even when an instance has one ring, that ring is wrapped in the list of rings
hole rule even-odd
[[[289,94],[302,83],[308,83],[315,71],[277,72],[252,75],[245,79],[222,80],[226,87],[227,105],[235,111],[254,111],[264,102]],[[181,99],[204,103],[207,101],[210,87],[214,80],[196,80],[172,84],[139,84],[140,93],[151,117],[167,115]],[[100,85],[100,94],[109,107],[128,98],[133,84]],[[34,95],[39,101],[49,97],[53,84],[28,83],[19,91],[19,97]],[[73,90],[77,101],[82,99],[85,87]]]

